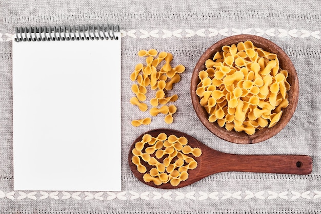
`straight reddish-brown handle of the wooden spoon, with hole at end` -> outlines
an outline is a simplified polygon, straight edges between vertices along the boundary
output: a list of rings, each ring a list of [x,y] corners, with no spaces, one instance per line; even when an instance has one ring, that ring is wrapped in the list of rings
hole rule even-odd
[[[306,175],[312,171],[312,158],[306,155],[233,155],[224,154],[227,161],[223,172],[254,172]]]

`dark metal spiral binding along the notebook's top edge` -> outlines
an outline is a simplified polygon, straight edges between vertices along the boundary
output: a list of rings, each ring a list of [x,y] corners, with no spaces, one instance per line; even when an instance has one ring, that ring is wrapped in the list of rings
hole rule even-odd
[[[118,40],[118,25],[16,27],[15,41]]]

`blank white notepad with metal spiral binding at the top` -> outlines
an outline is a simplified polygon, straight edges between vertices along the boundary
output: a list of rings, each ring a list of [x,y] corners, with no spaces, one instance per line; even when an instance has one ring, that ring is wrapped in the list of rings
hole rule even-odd
[[[121,190],[116,25],[16,28],[14,190]]]

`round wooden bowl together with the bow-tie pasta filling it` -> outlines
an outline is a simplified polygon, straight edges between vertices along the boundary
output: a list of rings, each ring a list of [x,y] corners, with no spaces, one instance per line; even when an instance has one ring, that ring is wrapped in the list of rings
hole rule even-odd
[[[272,41],[235,35],[216,42],[191,78],[194,110],[224,140],[249,144],[271,138],[290,121],[298,78],[287,54]]]

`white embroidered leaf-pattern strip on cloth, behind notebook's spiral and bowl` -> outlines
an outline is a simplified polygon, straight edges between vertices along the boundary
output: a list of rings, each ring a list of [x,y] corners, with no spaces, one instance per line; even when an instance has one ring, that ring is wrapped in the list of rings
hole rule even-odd
[[[200,37],[214,37],[217,35],[222,36],[232,36],[238,34],[253,34],[257,36],[271,36],[271,37],[293,37],[293,38],[316,38],[320,39],[320,31],[307,31],[304,29],[282,29],[282,28],[270,28],[270,29],[260,29],[260,28],[247,28],[247,29],[236,29],[236,28],[224,28],[224,29],[198,29],[198,30],[191,30],[191,29],[178,29],[178,30],[130,30],[130,31],[123,31],[121,30],[122,37],[132,37],[132,38],[148,38],[148,37],[155,37],[155,38],[170,38],[170,37],[178,37],[178,38],[189,38],[192,36],[200,36]],[[5,38],[3,38],[3,34],[0,33],[0,41],[11,41],[13,34],[6,33]]]

